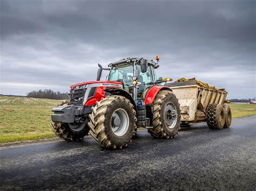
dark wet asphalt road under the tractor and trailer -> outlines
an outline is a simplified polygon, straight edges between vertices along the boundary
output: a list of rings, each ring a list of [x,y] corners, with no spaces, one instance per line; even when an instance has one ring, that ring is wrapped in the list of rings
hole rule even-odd
[[[232,127],[183,127],[174,139],[139,131],[132,145],[105,150],[88,137],[0,149],[5,189],[256,189],[256,116]]]

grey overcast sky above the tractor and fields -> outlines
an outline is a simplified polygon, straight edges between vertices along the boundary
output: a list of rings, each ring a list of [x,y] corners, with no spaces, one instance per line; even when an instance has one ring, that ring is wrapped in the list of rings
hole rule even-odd
[[[255,97],[255,2],[0,0],[0,94],[69,91],[98,62],[159,54],[158,77]]]

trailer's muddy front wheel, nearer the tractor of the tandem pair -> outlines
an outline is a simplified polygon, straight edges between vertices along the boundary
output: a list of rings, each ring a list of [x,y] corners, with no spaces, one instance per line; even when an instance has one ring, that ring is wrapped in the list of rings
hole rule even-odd
[[[223,129],[225,124],[225,111],[221,104],[212,103],[208,106],[206,122],[210,129]]]

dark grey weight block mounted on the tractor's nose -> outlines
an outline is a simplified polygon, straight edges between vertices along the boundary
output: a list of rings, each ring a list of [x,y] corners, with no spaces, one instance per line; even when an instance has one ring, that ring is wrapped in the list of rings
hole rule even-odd
[[[90,114],[91,107],[84,105],[61,105],[51,110],[54,114],[51,115],[53,122],[74,123],[75,117],[80,115]]]

